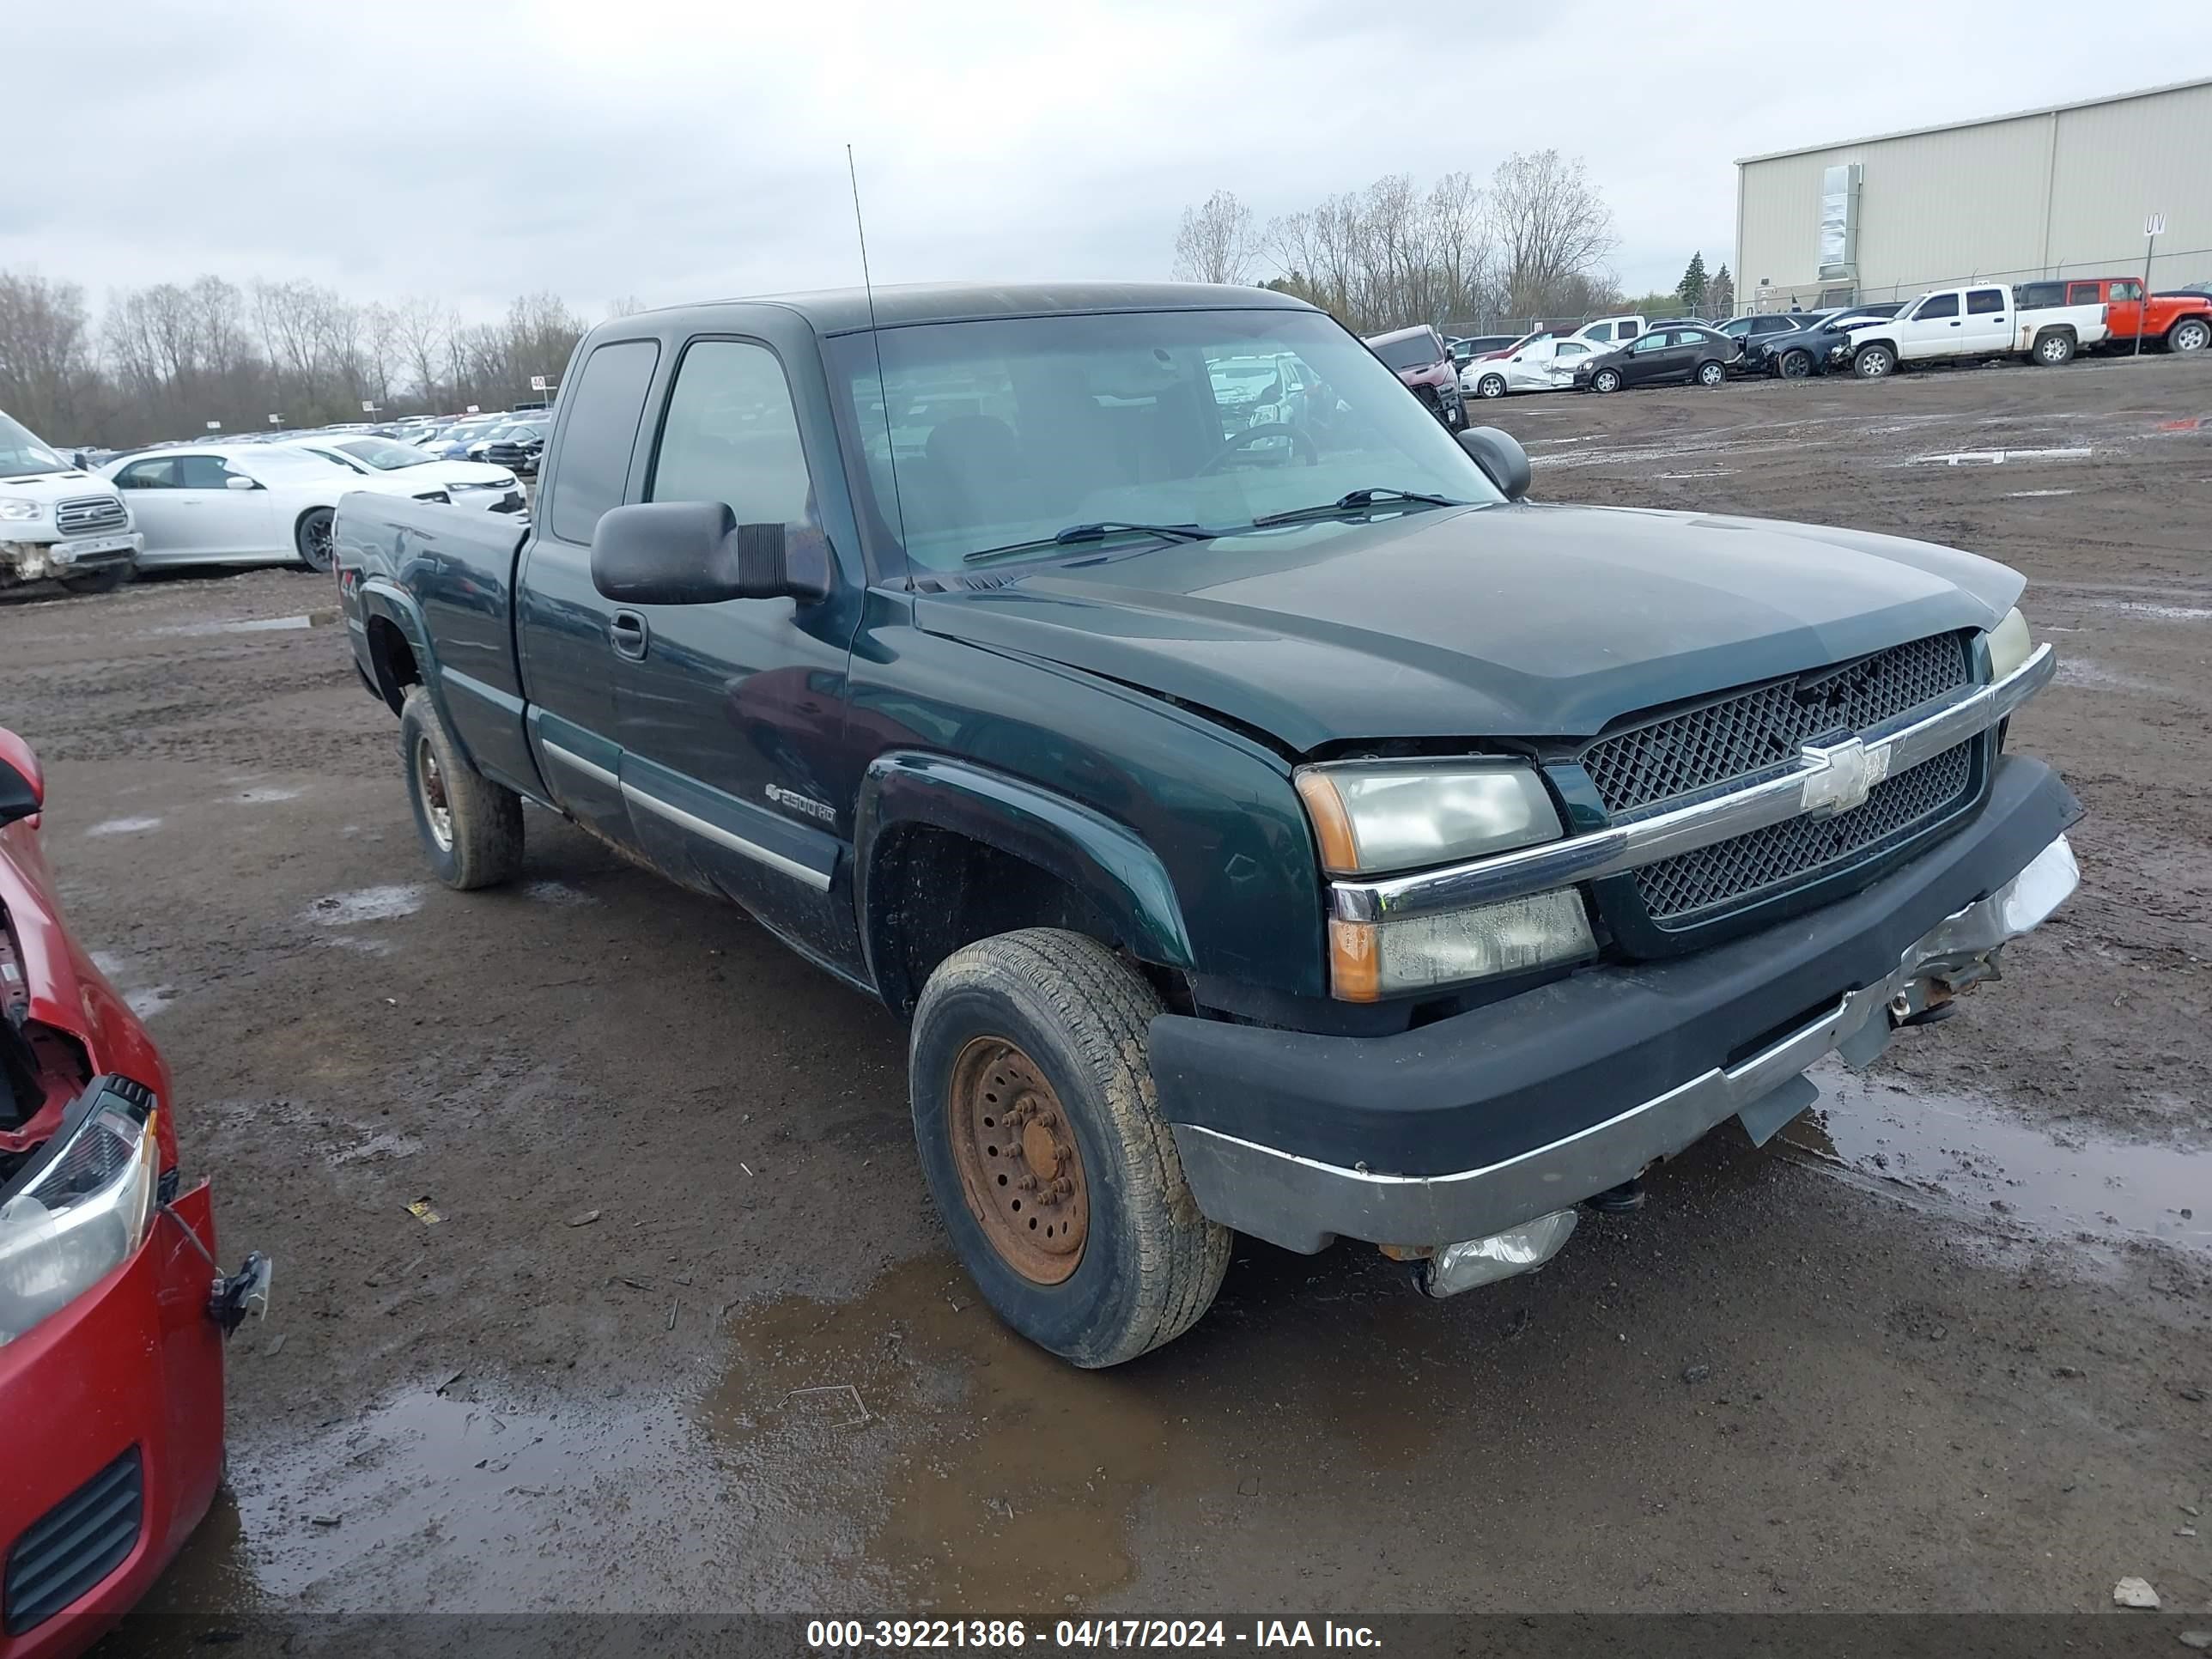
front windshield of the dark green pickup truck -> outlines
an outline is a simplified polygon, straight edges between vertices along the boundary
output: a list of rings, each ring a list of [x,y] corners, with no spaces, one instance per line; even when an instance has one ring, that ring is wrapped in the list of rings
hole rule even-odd
[[[1234,533],[1354,491],[1500,500],[1398,376],[1318,312],[929,323],[845,334],[830,356],[867,456],[865,507],[929,571],[1031,540],[1015,560],[1095,557],[1051,540],[1073,524]],[[1254,361],[1283,367],[1265,403],[1239,398]]]

